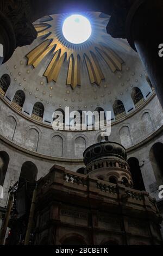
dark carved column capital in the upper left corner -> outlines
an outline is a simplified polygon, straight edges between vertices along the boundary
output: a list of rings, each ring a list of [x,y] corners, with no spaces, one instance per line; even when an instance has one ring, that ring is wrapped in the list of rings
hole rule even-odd
[[[30,22],[30,1],[1,0],[0,44],[3,45],[3,58],[0,61],[7,62],[16,47],[32,44],[36,37],[37,32]]]

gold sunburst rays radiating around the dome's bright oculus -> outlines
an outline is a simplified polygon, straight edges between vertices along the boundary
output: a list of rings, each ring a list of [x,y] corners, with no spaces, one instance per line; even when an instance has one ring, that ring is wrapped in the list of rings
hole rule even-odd
[[[80,76],[83,64],[86,65],[90,83],[96,83],[98,86],[105,79],[100,58],[109,66],[111,72],[122,70],[123,60],[110,47],[119,42],[113,41],[114,39],[106,34],[105,21],[109,19],[100,17],[101,13],[98,12],[84,15],[91,22],[92,34],[86,42],[79,45],[71,44],[62,35],[62,23],[67,17],[66,14],[45,16],[35,22],[40,44],[27,54],[27,65],[36,68],[48,56],[51,60],[43,74],[48,83],[57,82],[64,62],[68,64],[66,85],[70,85],[72,89],[82,84]]]

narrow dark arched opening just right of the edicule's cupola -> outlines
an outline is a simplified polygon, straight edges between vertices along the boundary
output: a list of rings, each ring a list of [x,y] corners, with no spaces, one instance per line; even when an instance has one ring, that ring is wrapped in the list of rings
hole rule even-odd
[[[133,178],[133,188],[135,190],[145,191],[145,184],[143,182],[141,169],[139,166],[139,160],[136,159],[136,157],[130,157],[130,159],[127,161],[130,167],[130,173]]]

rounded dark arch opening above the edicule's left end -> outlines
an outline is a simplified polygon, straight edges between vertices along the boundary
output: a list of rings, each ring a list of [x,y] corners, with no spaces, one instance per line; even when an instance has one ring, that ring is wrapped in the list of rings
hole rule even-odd
[[[21,168],[20,181],[27,180],[34,183],[37,178],[37,167],[33,162],[24,162]]]

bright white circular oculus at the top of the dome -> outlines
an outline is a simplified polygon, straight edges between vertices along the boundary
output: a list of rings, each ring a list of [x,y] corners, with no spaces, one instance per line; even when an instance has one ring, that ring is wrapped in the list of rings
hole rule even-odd
[[[71,15],[64,21],[62,33],[68,42],[82,44],[90,38],[92,33],[91,23],[83,15]]]

